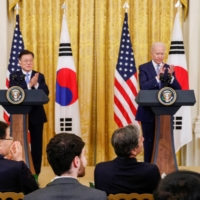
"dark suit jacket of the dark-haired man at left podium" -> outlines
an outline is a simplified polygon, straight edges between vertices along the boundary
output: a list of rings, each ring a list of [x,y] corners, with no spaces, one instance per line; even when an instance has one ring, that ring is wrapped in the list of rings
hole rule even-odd
[[[32,71],[32,74],[31,74],[31,78],[36,74],[37,72],[36,71]],[[13,77],[16,76],[15,79],[13,79]],[[12,74],[10,74],[10,83],[9,83],[9,87],[12,87],[12,86],[19,86],[23,89],[28,89],[27,88],[27,84],[26,84],[26,81],[23,79],[22,81],[20,81],[20,77],[23,76],[23,72],[20,70],[20,71],[17,71],[17,72],[14,72]],[[19,84],[18,84],[19,82]],[[39,77],[38,77],[38,83],[39,83],[39,87],[38,89],[42,89],[46,95],[49,95],[49,89],[48,89],[48,86],[46,85],[45,83],[45,78],[44,78],[44,75],[39,73]],[[34,87],[32,88],[33,90],[35,89]],[[41,124],[41,123],[44,123],[47,121],[47,118],[46,118],[46,114],[45,114],[45,111],[44,111],[44,107],[42,105],[39,105],[39,106],[32,106],[32,110],[31,112],[29,113],[29,120],[31,121],[32,124],[34,125],[37,125],[37,124]]]

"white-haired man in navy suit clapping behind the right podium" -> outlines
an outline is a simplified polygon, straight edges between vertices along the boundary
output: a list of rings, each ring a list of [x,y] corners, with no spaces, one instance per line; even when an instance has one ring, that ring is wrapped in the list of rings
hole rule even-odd
[[[174,66],[163,62],[165,56],[165,45],[156,42],[151,47],[152,60],[139,66],[139,85],[141,90],[159,90],[166,85],[175,90],[181,86],[176,80]],[[141,121],[144,137],[144,161],[151,162],[154,133],[155,115],[150,107],[138,106],[136,120]]]

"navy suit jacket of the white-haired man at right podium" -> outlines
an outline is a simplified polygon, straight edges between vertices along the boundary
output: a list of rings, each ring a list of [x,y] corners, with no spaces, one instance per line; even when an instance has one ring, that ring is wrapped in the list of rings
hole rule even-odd
[[[166,68],[169,68],[169,65],[165,64]],[[159,90],[159,84],[156,80],[156,71],[153,66],[152,61],[145,63],[143,65],[139,66],[139,84],[141,90]],[[166,78],[167,71],[164,73],[164,77]],[[161,87],[164,87],[164,85],[161,85]],[[169,87],[180,90],[181,86],[176,80],[175,74],[174,74],[174,80],[172,84],[169,85]],[[136,113],[136,120],[141,122],[153,122],[155,120],[155,115],[150,107],[147,106],[138,106],[137,113]]]

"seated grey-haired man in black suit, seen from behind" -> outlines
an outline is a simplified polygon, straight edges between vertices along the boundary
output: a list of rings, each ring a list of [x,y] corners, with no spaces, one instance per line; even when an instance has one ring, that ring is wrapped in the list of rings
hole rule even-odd
[[[95,188],[109,194],[153,193],[160,181],[160,172],[154,164],[137,162],[143,150],[144,138],[135,125],[117,129],[111,138],[117,157],[96,165]]]

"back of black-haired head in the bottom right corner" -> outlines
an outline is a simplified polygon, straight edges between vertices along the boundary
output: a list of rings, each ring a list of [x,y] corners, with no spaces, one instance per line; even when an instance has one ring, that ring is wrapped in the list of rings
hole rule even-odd
[[[154,200],[199,200],[200,174],[175,171],[162,179],[154,192]]]

